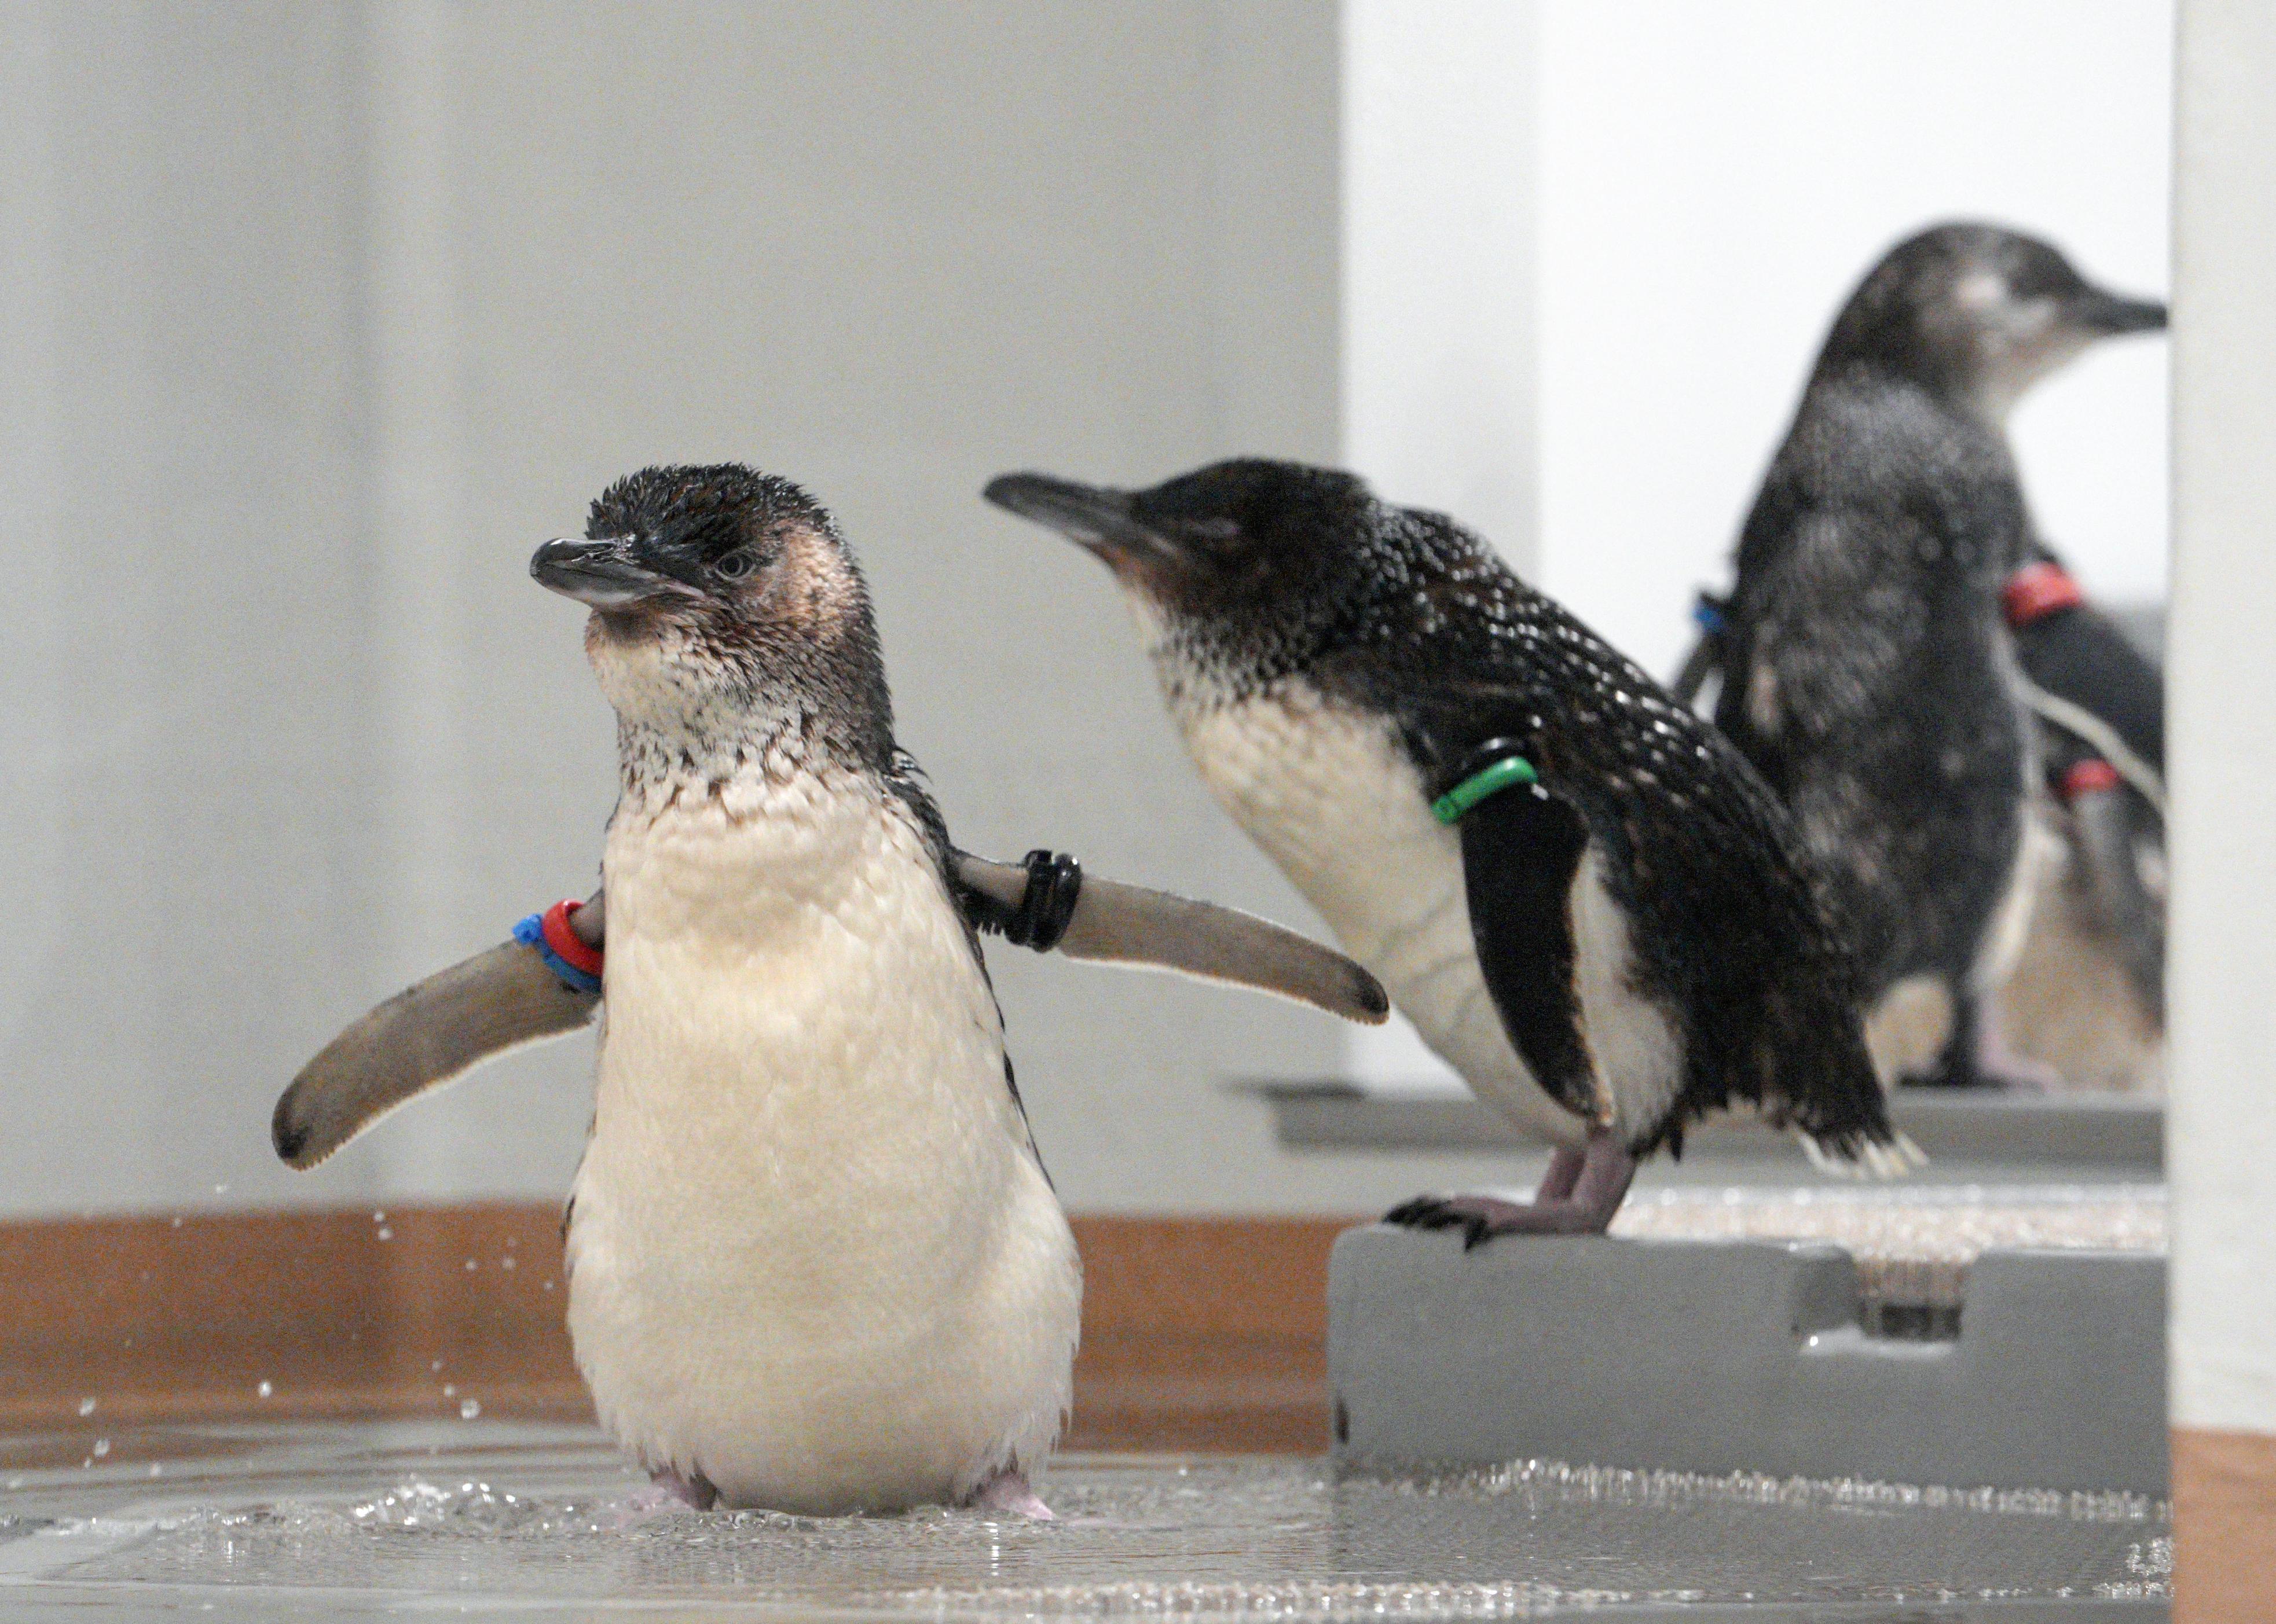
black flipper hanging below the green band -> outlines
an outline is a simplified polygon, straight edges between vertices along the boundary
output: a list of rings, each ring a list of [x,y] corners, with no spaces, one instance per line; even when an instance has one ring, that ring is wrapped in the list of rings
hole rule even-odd
[[[1457,821],[1477,969],[1509,1044],[1566,1110],[1602,1121],[1580,1028],[1573,876],[1589,846],[1580,812],[1541,785],[1511,785]]]

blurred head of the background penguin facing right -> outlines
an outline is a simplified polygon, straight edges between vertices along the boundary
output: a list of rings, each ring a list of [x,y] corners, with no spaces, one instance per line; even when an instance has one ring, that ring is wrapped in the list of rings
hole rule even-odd
[[[2162,328],[2164,305],[2094,287],[2053,243],[1998,225],[1935,225],[1857,284],[1819,375],[1873,366],[1998,419],[2096,339]]]

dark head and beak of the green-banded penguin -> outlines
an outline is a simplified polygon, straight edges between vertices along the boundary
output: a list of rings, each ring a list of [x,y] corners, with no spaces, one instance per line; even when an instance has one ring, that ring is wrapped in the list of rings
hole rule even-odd
[[[1006,473],[983,494],[1106,564],[1156,651],[1209,644],[1281,669],[1366,589],[1366,539],[1388,512],[1356,475],[1261,457],[1145,491]]]

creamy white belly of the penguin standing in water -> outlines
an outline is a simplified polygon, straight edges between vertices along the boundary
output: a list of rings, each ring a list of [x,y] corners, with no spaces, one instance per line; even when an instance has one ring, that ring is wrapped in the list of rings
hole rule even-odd
[[[1074,1244],[915,821],[865,785],[619,807],[569,1328],[728,1503],[954,1501],[1049,1447]]]

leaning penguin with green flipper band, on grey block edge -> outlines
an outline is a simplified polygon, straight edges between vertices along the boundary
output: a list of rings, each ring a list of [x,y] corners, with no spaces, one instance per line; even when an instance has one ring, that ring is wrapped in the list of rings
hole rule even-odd
[[[1463,1080],[1555,1151],[1536,1199],[1388,1217],[1595,1233],[1636,1158],[1753,1105],[1894,1162],[1855,967],[1753,769],[1452,519],[1220,462],[988,500],[1095,553],[1202,778]]]

